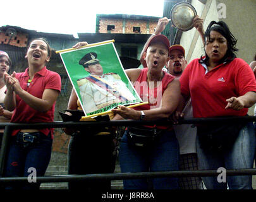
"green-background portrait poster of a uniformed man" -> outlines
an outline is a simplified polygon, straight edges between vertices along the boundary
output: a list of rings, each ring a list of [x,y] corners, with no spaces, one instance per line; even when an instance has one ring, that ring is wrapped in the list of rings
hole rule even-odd
[[[59,53],[85,116],[142,102],[113,42]]]

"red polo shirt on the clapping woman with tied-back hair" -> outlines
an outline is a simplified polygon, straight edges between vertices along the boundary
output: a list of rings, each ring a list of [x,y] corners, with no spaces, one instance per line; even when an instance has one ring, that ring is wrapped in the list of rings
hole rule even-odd
[[[27,86],[29,78],[28,68],[23,73],[17,73],[16,78],[20,81],[20,86],[23,90],[38,98],[42,98],[45,89],[61,91],[61,77],[58,73],[49,71],[46,67],[35,74],[29,86]],[[16,95],[16,108],[13,111],[11,122],[52,122],[54,119],[54,109],[55,102],[46,113],[39,112],[27,105],[19,95]],[[13,130],[12,135],[15,135],[18,131],[20,129]],[[39,131],[46,135],[51,131],[51,135],[53,136],[53,129],[44,128],[39,129]]]

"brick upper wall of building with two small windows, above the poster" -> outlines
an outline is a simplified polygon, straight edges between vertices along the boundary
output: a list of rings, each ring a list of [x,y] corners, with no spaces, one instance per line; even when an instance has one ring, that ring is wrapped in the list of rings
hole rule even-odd
[[[113,18],[101,18],[99,20],[99,33],[108,33],[107,25],[114,25],[114,30],[111,33],[123,33],[123,21],[125,21],[125,33],[133,32],[133,27],[140,27],[140,33],[151,34],[154,32],[154,28],[157,26],[157,21],[149,21],[149,33],[147,33],[147,21],[146,20],[124,20]]]

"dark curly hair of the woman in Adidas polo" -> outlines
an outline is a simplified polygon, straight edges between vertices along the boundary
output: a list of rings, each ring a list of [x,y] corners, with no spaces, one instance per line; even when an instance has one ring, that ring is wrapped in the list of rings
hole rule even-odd
[[[211,31],[216,31],[216,32],[221,33],[221,35],[223,37],[225,37],[228,42],[228,50],[227,50],[225,56],[219,62],[222,63],[222,62],[233,61],[233,59],[236,58],[235,52],[238,51],[238,49],[236,49],[236,47],[235,47],[237,40],[234,37],[234,35],[230,32],[228,25],[226,23],[224,23],[224,21],[218,21],[218,22],[211,21],[207,27],[207,30],[204,33],[204,43],[205,44],[206,44],[206,39],[210,37]],[[203,63],[203,62],[207,65],[209,63],[209,56],[207,56],[206,52],[205,52],[205,58],[202,59],[202,56],[200,58],[200,63]]]

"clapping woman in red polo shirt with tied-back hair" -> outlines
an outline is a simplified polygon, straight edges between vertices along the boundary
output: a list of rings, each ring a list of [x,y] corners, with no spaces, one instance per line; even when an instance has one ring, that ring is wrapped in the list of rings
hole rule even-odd
[[[56,99],[61,90],[58,73],[46,69],[51,49],[46,40],[32,40],[25,56],[28,68],[23,73],[5,73],[7,87],[4,104],[14,110],[11,122],[52,122]],[[42,176],[51,158],[53,131],[43,129],[15,129],[11,134],[7,153],[5,177],[33,174]],[[39,189],[40,183],[10,184],[6,189]]]

